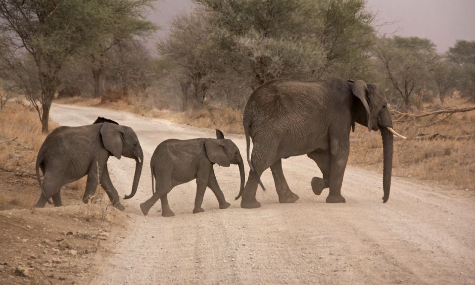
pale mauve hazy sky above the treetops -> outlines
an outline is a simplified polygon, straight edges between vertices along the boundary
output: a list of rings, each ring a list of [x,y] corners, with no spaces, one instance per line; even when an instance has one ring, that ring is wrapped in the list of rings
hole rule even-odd
[[[168,21],[177,13],[189,10],[191,0],[158,0],[149,19],[162,27],[164,37]],[[378,13],[379,33],[428,38],[440,52],[456,40],[475,40],[475,0],[367,0]]]

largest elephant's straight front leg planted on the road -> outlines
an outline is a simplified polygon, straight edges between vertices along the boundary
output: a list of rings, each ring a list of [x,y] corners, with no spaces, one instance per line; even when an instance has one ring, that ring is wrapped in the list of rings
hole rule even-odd
[[[345,203],[346,200],[341,196],[341,184],[345,174],[346,163],[349,155],[348,142],[341,139],[330,139],[330,149],[332,154],[330,171],[330,193],[327,197],[327,203]]]

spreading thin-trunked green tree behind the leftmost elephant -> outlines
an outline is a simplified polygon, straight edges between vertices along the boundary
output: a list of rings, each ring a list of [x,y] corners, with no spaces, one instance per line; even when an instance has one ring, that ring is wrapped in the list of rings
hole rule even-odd
[[[110,8],[112,2],[0,1],[0,33],[4,38],[0,59],[15,73],[21,89],[37,110],[43,133],[48,132],[49,109],[64,63],[97,47],[113,34],[116,15]]]

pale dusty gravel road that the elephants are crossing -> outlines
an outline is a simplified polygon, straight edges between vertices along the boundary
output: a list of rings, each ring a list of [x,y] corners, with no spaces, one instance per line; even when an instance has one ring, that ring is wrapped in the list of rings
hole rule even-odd
[[[168,195],[175,217],[160,216],[158,202],[144,217],[139,204],[151,195],[149,159],[169,138],[214,137],[214,131],[95,108],[54,104],[61,125],[92,123],[97,115],[132,127],[144,151],[137,195],[125,200],[134,223],[104,261],[93,284],[475,284],[475,202],[443,190],[393,178],[381,203],[382,176],[348,167],[346,204],[325,203],[310,180],[321,176],[306,156],[284,160],[289,187],[300,196],[279,204],[270,170],[258,189],[259,209],[241,209],[237,166],[215,166],[232,206],[219,210],[207,190],[204,213],[192,214],[195,183]],[[226,134],[225,134],[226,136]],[[242,136],[230,136],[245,156]],[[135,162],[111,157],[112,182],[130,193]],[[247,166],[247,165],[246,165]],[[247,169],[247,167],[246,167]]]

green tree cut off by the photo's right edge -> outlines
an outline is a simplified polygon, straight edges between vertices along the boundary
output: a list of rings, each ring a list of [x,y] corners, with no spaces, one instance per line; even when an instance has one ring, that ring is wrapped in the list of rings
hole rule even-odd
[[[461,70],[459,88],[475,102],[475,41],[459,40],[447,53]]]

